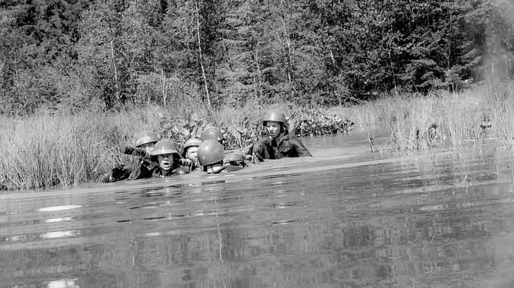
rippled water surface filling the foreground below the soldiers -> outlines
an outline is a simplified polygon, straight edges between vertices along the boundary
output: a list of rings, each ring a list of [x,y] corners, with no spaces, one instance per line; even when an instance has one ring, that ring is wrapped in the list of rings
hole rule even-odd
[[[0,286],[514,287],[510,155],[303,141],[316,157],[0,195]]]

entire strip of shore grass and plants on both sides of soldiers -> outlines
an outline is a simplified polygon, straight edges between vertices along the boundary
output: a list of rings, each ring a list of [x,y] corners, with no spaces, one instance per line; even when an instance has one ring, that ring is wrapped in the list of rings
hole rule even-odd
[[[382,146],[382,152],[424,153],[434,145],[461,147],[485,137],[496,139],[498,145],[509,149],[513,145],[512,82],[483,85],[462,93],[397,93],[368,104],[325,110],[300,109],[290,104],[264,107],[249,102],[240,109],[220,107],[210,115],[203,107],[196,112],[198,118],[205,118],[205,122],[216,124],[233,136],[235,146],[243,146],[259,136],[262,115],[270,108],[293,115],[291,120],[297,128],[303,125],[305,131],[301,133],[305,135],[347,125],[348,119],[362,129],[384,121],[391,137]],[[99,181],[112,167],[130,157],[117,151],[121,144],[134,144],[134,135],[143,130],[156,131],[161,137],[172,136],[170,131],[177,117],[188,114],[147,107],[119,113],[40,111],[25,118],[0,116],[0,190]],[[300,133],[299,128],[296,131]]]

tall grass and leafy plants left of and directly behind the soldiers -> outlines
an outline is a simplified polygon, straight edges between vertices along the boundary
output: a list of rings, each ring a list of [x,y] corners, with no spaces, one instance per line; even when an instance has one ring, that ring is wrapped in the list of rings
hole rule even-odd
[[[304,123],[309,129],[291,126],[301,133],[344,133],[349,121],[334,111],[331,119],[313,118],[308,110],[282,105],[293,117],[291,122]],[[162,107],[132,108],[112,111],[38,111],[19,118],[0,118],[0,190],[68,186],[99,181],[128,155],[118,147],[134,145],[134,135],[143,130],[156,131],[164,138],[182,144],[187,137],[199,137],[205,126],[220,128],[227,148],[242,148],[263,134],[262,116],[268,107],[248,103],[241,109],[223,106],[215,111],[189,107],[179,113]],[[293,111],[296,111],[293,112]],[[187,115],[187,116],[185,116]],[[307,116],[309,115],[309,116]],[[330,121],[331,120],[331,121]]]

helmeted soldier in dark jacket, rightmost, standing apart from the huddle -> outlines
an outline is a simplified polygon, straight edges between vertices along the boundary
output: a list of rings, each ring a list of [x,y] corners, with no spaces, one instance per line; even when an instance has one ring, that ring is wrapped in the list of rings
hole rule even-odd
[[[296,135],[289,133],[284,112],[273,109],[266,113],[263,126],[269,137],[261,138],[254,145],[254,155],[259,161],[263,159],[280,159],[284,157],[312,156]]]

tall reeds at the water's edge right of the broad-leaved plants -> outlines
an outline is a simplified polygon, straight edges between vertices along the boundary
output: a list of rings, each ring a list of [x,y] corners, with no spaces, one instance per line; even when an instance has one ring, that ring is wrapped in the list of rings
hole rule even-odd
[[[433,146],[455,148],[488,140],[513,148],[514,82],[495,82],[460,93],[433,91],[391,97],[353,107],[357,123],[382,120],[391,137],[382,151],[424,152]],[[352,117],[352,116],[350,116]]]

